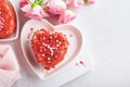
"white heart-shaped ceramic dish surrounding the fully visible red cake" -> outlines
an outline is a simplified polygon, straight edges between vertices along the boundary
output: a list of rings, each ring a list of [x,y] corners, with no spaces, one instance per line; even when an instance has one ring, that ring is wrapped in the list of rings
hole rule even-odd
[[[55,69],[52,69],[50,71],[44,70],[42,65],[37,63],[36,57],[31,48],[31,37],[36,30],[41,28],[63,33],[64,35],[66,35],[69,41],[69,47],[65,59],[60,64],[57,64]],[[46,79],[58,74],[60,71],[62,71],[62,69],[64,69],[69,62],[72,62],[77,57],[82,46],[82,36],[78,28],[70,25],[53,26],[46,20],[29,20],[23,26],[21,35],[21,45],[23,53],[32,71],[41,79]]]

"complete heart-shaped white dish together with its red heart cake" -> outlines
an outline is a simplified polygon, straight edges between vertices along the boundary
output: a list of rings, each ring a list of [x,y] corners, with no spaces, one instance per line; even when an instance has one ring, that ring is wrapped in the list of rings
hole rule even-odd
[[[46,79],[75,60],[82,47],[82,35],[72,25],[53,26],[46,20],[29,20],[22,29],[21,45],[30,67]]]

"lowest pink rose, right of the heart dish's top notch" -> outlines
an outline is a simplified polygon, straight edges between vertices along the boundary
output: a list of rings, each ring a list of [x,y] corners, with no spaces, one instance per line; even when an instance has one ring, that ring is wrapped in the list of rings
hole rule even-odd
[[[61,12],[58,23],[65,24],[73,21],[74,18],[76,18],[76,14],[70,10],[65,10]]]

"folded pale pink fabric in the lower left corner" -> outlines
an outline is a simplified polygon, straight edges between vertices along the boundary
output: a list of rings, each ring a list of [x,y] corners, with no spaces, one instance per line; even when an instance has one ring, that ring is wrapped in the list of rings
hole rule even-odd
[[[21,78],[16,57],[9,45],[0,45],[0,87],[11,87]]]

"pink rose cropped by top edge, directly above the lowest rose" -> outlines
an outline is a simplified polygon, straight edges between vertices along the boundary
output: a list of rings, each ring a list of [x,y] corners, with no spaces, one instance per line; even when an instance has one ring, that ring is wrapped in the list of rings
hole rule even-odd
[[[83,0],[66,0],[66,4],[70,8],[78,9],[83,4]]]

